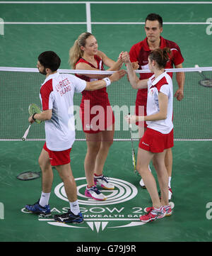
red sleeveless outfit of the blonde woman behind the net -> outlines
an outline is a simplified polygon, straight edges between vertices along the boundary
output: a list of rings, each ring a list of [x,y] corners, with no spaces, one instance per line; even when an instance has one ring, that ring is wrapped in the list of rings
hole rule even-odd
[[[95,55],[95,60],[98,65],[98,69],[105,70],[102,60],[98,55]],[[90,67],[96,68],[90,62],[84,60],[82,57],[76,65],[80,62],[84,62]],[[92,79],[86,77],[86,75],[76,74],[77,77],[92,82],[98,79]],[[106,87],[95,91],[82,91],[81,100],[81,121],[83,125],[83,131],[85,133],[99,133],[102,130],[112,130],[112,124],[114,123],[114,113],[110,106]]]

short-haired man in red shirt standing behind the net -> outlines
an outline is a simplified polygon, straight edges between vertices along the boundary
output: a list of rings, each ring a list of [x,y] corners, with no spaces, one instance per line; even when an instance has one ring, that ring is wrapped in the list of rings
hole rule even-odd
[[[170,60],[167,62],[165,68],[182,68],[182,62],[184,58],[180,52],[179,46],[177,43],[174,43],[170,40],[167,40],[160,36],[163,32],[163,18],[161,18],[158,14],[150,13],[146,17],[145,22],[145,32],[146,38],[136,43],[132,46],[131,50],[129,51],[130,60],[133,63],[134,69],[149,69],[148,67],[148,55],[150,54],[151,50],[156,48],[170,48],[172,51],[172,55],[170,56]],[[172,73],[168,73],[172,77]],[[140,74],[140,79],[147,79],[151,77],[151,73],[142,73]],[[184,72],[177,72],[176,79],[178,84],[178,89],[175,92],[175,97],[178,101],[183,99],[183,87],[184,87]],[[136,96],[136,115],[139,116],[139,106],[144,107],[144,115],[146,116],[146,101],[147,101],[147,89],[139,89],[137,96]],[[143,115],[143,113],[140,113]],[[136,123],[139,125],[139,123]],[[143,136],[143,123],[139,126],[139,136],[140,138]],[[146,123],[144,123],[144,129],[146,129]],[[153,161],[153,165],[155,166],[155,162]],[[167,154],[165,156],[165,166],[167,168],[168,176],[169,176],[169,188],[170,181],[172,177],[172,150],[167,150]],[[157,168],[155,166],[155,168]],[[143,184],[143,179],[141,179],[141,187],[145,188]],[[169,199],[171,199],[172,190],[170,188]]]

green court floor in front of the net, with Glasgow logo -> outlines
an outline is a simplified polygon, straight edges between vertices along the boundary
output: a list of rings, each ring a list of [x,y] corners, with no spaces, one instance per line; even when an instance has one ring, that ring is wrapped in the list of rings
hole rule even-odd
[[[172,189],[175,203],[170,217],[141,225],[143,208],[151,204],[146,189],[131,167],[130,142],[114,143],[105,165],[105,174],[115,182],[114,191],[104,191],[105,202],[83,197],[86,186],[83,160],[84,142],[77,141],[71,151],[71,167],[78,186],[85,221],[81,225],[55,223],[24,213],[25,204],[40,198],[41,179],[20,181],[16,175],[27,170],[39,171],[37,158],[43,142],[1,142],[0,194],[4,203],[4,219],[0,220],[1,241],[211,241],[211,142],[175,142]],[[153,171],[155,175],[155,171]],[[117,196],[117,199],[116,199]],[[52,213],[69,207],[63,186],[54,169],[50,197]],[[117,201],[116,201],[117,200]],[[206,206],[210,205],[209,208]],[[57,226],[55,226],[57,225]]]

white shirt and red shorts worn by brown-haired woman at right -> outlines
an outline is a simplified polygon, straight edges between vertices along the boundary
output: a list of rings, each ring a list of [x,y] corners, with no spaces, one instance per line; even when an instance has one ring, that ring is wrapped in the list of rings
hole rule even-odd
[[[160,111],[158,94],[163,93],[168,97],[167,118],[158,121],[146,121],[147,129],[140,140],[139,148],[150,152],[163,152],[174,145],[173,138],[173,86],[172,78],[163,72],[155,79],[155,75],[148,79],[147,116]]]

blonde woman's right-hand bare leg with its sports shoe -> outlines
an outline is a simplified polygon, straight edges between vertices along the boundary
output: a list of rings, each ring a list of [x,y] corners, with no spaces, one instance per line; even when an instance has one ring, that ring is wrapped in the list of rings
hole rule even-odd
[[[104,189],[114,189],[114,185],[108,182],[108,180],[103,174],[105,161],[107,159],[110,146],[113,143],[114,124],[112,125],[111,128],[108,128],[107,130],[102,130],[100,134],[101,134],[101,145],[95,160],[95,169],[94,169],[95,183]]]

